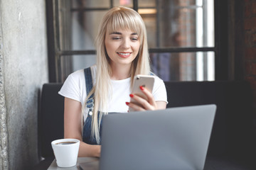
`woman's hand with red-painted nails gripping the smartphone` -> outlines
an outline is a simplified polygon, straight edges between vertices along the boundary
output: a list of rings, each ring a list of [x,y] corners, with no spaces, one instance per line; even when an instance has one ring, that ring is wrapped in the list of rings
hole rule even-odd
[[[157,109],[164,109],[166,108],[166,102],[164,101],[155,101],[154,96],[151,94],[149,90],[144,88],[143,86],[140,86],[140,89],[143,94],[145,94],[146,99],[137,96],[136,94],[130,94],[130,97],[133,98],[135,101],[137,101],[138,104],[136,103],[127,103],[127,105],[130,108],[133,108],[134,111],[154,111]]]

